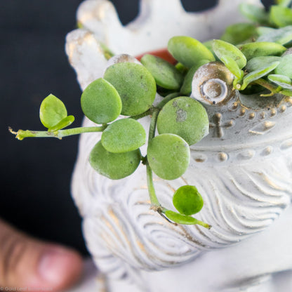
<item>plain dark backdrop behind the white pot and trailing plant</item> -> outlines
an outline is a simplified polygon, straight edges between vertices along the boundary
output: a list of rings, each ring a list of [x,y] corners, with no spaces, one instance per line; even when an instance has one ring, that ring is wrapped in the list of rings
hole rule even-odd
[[[124,24],[138,13],[138,0],[112,2]],[[216,3],[182,2],[187,11]],[[80,126],[81,91],[64,49],[65,35],[76,27],[80,3],[0,0],[0,217],[36,237],[86,254],[81,219],[69,190],[78,137],[20,142],[7,129],[42,129],[39,105],[49,93],[65,102],[68,114],[76,117],[72,126]]]

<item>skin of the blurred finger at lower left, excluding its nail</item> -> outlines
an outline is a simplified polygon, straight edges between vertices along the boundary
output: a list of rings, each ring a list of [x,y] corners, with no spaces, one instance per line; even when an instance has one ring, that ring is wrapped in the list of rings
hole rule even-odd
[[[37,274],[41,255],[50,250],[71,253],[68,270],[55,284],[46,282]],[[0,286],[44,287],[62,291],[79,280],[81,270],[82,259],[75,251],[27,237],[0,220]]]

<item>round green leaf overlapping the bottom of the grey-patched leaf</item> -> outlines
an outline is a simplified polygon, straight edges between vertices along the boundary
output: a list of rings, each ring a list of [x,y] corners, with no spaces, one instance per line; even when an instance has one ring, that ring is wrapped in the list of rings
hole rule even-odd
[[[158,135],[148,145],[147,160],[160,178],[175,180],[185,173],[190,164],[190,147],[178,135]]]

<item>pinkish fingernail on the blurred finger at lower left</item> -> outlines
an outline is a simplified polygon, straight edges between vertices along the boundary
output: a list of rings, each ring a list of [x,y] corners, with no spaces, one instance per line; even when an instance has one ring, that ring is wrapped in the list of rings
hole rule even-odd
[[[71,263],[72,253],[62,248],[51,248],[44,251],[39,260],[39,275],[41,279],[52,285],[58,285]]]

